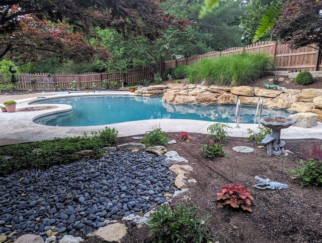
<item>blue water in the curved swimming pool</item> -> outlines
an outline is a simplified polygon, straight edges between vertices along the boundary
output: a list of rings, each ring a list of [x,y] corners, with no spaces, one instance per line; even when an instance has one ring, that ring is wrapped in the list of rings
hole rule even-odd
[[[141,96],[82,96],[47,99],[33,104],[69,104],[72,112],[40,117],[35,123],[47,126],[76,127],[123,123],[144,119],[195,119],[234,123],[235,105],[182,105],[162,98]],[[254,123],[256,106],[241,105],[240,123]],[[291,111],[263,107],[262,116],[284,115]],[[258,121],[258,120],[257,120]]]

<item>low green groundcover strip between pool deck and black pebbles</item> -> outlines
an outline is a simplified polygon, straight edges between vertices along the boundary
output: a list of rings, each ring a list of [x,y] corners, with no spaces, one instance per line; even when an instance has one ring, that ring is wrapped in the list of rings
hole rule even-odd
[[[93,150],[95,157],[102,156],[103,147],[111,146],[117,141],[114,128],[106,127],[103,131],[92,132],[91,136],[55,138],[28,144],[14,144],[0,147],[0,175],[11,173],[13,170],[37,168],[45,169],[52,165],[66,164],[77,161],[74,154],[81,150]],[[10,160],[4,156],[12,156]]]

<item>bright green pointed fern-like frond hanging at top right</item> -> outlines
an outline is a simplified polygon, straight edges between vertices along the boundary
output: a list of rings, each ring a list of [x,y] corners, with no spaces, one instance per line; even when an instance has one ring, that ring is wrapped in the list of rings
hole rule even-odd
[[[272,2],[268,11],[263,15],[259,26],[255,32],[253,43],[258,41],[269,29],[274,26],[274,21],[281,12],[281,2]]]

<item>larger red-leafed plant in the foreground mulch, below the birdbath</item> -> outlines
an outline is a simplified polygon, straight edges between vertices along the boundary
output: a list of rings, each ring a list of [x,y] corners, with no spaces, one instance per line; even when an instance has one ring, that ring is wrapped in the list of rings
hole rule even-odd
[[[242,209],[252,212],[251,200],[254,200],[254,198],[251,194],[250,191],[238,183],[229,184],[217,193],[218,208],[223,208],[229,204],[233,208],[239,208],[240,206]]]

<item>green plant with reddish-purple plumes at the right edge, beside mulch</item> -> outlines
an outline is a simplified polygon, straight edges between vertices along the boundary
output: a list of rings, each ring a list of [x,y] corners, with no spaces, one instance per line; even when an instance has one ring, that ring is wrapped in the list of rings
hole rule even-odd
[[[301,187],[322,186],[322,149],[320,145],[314,144],[310,151],[304,154],[304,158],[298,161],[303,168],[292,169],[293,179],[299,179]]]

